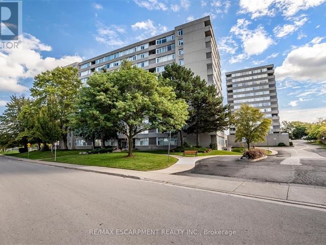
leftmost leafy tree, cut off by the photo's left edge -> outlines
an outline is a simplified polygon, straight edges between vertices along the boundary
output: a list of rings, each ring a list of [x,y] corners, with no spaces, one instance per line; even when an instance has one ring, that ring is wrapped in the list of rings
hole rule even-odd
[[[7,141],[7,147],[23,145],[24,148],[27,148],[28,137],[19,137],[19,135],[25,131],[24,126],[30,118],[20,117],[20,113],[25,106],[30,104],[31,100],[24,95],[12,95],[10,101],[6,104],[6,109],[0,116],[0,132],[2,141]]]

